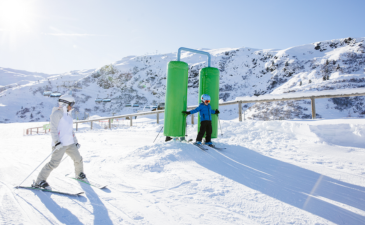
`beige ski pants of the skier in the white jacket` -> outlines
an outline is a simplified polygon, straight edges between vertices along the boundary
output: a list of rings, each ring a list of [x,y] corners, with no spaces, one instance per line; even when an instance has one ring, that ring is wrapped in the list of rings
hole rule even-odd
[[[48,178],[49,174],[52,172],[52,170],[56,169],[58,167],[58,165],[60,164],[65,152],[74,161],[75,177],[78,177],[81,172],[84,172],[84,165],[83,165],[83,161],[82,161],[80,152],[77,149],[76,144],[71,144],[68,146],[64,146],[61,149],[53,152],[51,161],[49,161],[49,163],[44,165],[41,172],[39,173],[37,181],[36,181],[37,183],[39,183],[42,180],[47,180],[47,178]]]

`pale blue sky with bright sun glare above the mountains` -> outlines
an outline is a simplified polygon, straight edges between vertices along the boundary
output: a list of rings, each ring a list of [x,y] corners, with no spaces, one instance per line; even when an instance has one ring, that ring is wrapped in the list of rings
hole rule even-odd
[[[365,37],[365,0],[0,0],[0,67],[62,73],[179,47]]]

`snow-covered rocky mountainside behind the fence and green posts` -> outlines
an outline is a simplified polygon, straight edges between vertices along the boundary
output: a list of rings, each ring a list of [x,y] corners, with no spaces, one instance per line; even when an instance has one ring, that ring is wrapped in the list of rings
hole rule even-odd
[[[282,94],[314,90],[365,87],[365,38],[344,38],[284,50],[252,48],[202,49],[212,55],[212,66],[220,70],[220,99],[239,96]],[[188,46],[187,46],[188,47]],[[166,68],[176,53],[128,56],[99,69],[45,76],[0,92],[0,122],[46,121],[56,99],[43,96],[57,91],[66,81],[82,89],[73,91],[79,118],[85,114],[109,116],[133,111],[126,104],[155,105],[163,102]],[[206,57],[183,52],[190,66],[188,105],[198,103],[199,70]],[[67,85],[67,82],[66,82]],[[67,89],[58,87],[65,93]],[[95,99],[111,98],[96,103]],[[364,97],[318,99],[318,118],[362,117]],[[310,101],[288,101],[244,105],[246,118],[310,118]],[[222,117],[238,117],[237,106],[222,107]]]

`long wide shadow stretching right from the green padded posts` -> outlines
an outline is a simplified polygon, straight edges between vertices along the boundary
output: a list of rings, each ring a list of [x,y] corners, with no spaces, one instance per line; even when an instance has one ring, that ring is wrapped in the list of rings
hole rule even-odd
[[[261,155],[241,146],[223,146],[209,155],[184,151],[205,168],[336,224],[364,224],[365,217],[318,199],[365,211],[365,188]]]

